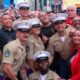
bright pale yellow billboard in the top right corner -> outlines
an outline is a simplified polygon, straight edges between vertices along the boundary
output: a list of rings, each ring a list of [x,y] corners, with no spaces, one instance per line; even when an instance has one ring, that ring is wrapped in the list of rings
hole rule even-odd
[[[80,0],[62,0],[62,9],[65,10],[67,6],[75,4],[77,7],[80,7]]]

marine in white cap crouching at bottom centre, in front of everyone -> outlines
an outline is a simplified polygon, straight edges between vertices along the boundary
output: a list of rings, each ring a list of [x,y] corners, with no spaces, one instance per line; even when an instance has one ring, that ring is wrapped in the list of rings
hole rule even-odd
[[[47,51],[38,51],[34,54],[33,59],[36,61],[38,71],[29,76],[29,80],[61,80],[53,71],[49,70],[50,53]]]

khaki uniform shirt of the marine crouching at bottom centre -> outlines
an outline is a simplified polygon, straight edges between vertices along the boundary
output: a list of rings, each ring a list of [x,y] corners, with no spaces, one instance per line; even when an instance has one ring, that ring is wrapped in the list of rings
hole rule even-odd
[[[60,77],[53,71],[49,70],[47,73],[46,80],[58,80]],[[40,72],[34,72],[29,76],[29,80],[41,80]]]

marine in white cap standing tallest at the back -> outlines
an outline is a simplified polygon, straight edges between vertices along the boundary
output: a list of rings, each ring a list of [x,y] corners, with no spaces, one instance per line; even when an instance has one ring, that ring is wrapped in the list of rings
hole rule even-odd
[[[29,4],[26,2],[21,2],[18,4],[20,18],[13,22],[13,27],[20,22],[27,22],[29,18]],[[15,27],[14,27],[15,29]]]

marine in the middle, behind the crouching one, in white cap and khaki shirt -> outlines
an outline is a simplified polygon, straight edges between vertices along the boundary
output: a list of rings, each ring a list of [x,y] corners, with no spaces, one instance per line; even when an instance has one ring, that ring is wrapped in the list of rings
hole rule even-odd
[[[28,38],[28,42],[30,43],[29,44],[30,50],[29,50],[29,54],[28,54],[28,61],[29,61],[29,65],[30,65],[32,71],[35,71],[34,61],[33,61],[32,57],[37,51],[44,50],[45,48],[44,48],[41,38],[39,37],[40,27],[41,27],[40,22],[35,18],[31,19],[29,22],[30,22],[29,24],[32,27],[31,27],[31,35]]]

